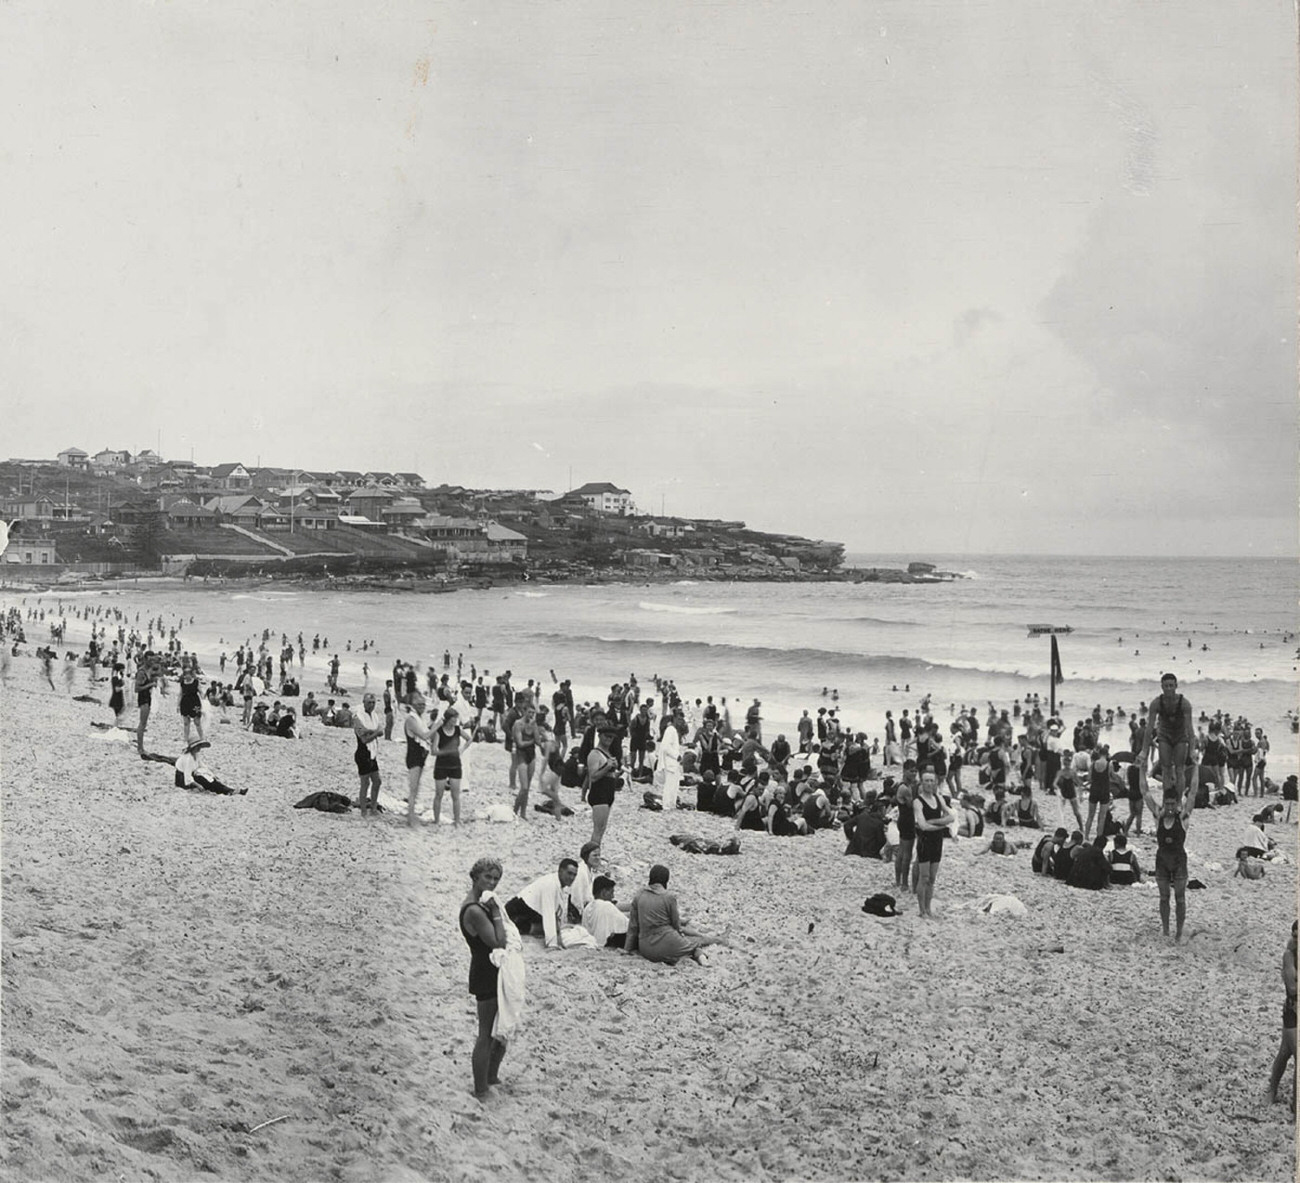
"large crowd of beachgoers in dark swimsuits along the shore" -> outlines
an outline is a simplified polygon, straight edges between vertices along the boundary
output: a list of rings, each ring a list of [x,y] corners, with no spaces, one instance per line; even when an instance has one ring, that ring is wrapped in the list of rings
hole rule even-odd
[[[329,637],[261,629],[200,659],[186,646],[187,624],[192,618],[160,612],[142,620],[120,606],[29,597],[0,619],[0,676],[8,679],[12,658],[31,655],[43,663],[51,689],[62,685],[75,694],[107,685],[109,714],[92,725],[134,732],[139,755],[174,764],[183,788],[235,792],[213,771],[218,723],[276,741],[328,727],[354,733],[355,768],[338,774],[339,784],[346,774],[350,788],[350,777],[358,780],[355,796],[313,794],[328,798],[309,802],[317,807],[382,812],[378,790],[394,763],[382,753],[398,744],[406,776],[398,796],[407,809],[390,820],[424,824],[419,810],[432,770],[432,820],[441,823],[450,798],[451,823],[459,827],[474,820],[462,811],[463,757],[473,745],[498,745],[508,753],[508,785],[473,788],[504,788],[507,801],[480,810],[477,820],[500,820],[493,811],[504,811],[507,802],[506,816],[519,822],[589,816],[590,835],[575,857],[504,906],[494,902],[499,862],[480,859],[471,872],[460,930],[472,954],[471,992],[480,1002],[480,1096],[495,1083],[502,1044],[493,1032],[512,1009],[504,983],[520,935],[668,962],[705,961],[702,949],[727,941],[725,933],[681,923],[663,866],[651,870],[630,904],[615,904],[619,884],[602,874],[601,848],[616,805],[708,812],[729,819],[734,831],[774,837],[838,829],[845,853],[893,864],[896,889],[913,896],[924,918],[933,915],[942,844],[954,838],[991,855],[1032,848],[1035,871],[1075,887],[1124,885],[1154,874],[1162,928],[1170,933],[1174,911],[1176,940],[1187,884],[1179,855],[1192,810],[1261,798],[1238,849],[1239,874],[1249,878],[1260,861],[1277,857],[1266,826],[1290,823],[1296,798],[1295,776],[1279,785],[1269,775],[1262,728],[1225,708],[1202,708],[1193,718],[1171,675],[1150,703],[1097,705],[1074,711],[1072,723],[1039,696],[1006,706],[940,706],[905,686],[893,690],[900,702],[913,697],[913,705],[898,708],[897,718],[885,711],[868,728],[862,719],[850,722],[838,693],[823,688],[822,705],[803,710],[792,733],[774,734],[758,698],[692,697],[660,675],[644,682],[630,675],[611,684],[603,701],[576,701],[572,681],[554,670],[545,681],[511,670],[493,673],[450,649],[429,666],[400,658],[381,663],[373,640],[354,646],[348,638],[342,646],[351,659],[363,659],[364,685],[352,694],[339,684],[341,660]],[[304,693],[308,653],[329,660],[322,684]],[[172,710],[178,724],[166,718]],[[178,754],[153,751],[151,742]],[[1143,867],[1139,836],[1154,840],[1154,864]],[[725,842],[705,846],[727,853]],[[1292,976],[1292,997],[1294,989]]]

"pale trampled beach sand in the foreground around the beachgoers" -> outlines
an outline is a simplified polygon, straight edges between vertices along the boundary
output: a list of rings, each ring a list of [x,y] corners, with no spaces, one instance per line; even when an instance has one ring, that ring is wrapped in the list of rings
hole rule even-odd
[[[957,841],[933,923],[910,897],[874,918],[892,868],[838,832],[689,855],[670,833],[729,823],[627,792],[620,900],[664,862],[685,918],[738,948],[667,967],[525,941],[524,1027],[480,1105],[467,870],[495,854],[517,890],[577,854],[585,810],[411,831],[393,742],[389,814],[295,811],[356,789],[350,734],[313,720],[299,741],[217,724],[212,767],[248,793],[213,797],[107,718],[31,658],[0,690],[8,1178],[1295,1178],[1290,1074],[1287,1104],[1264,1093],[1296,836],[1270,827],[1287,862],[1234,879],[1251,802],[1195,815],[1206,889],[1175,948],[1153,884],[1078,892]],[[174,690],[147,746],[179,750]],[[508,801],[504,768],[472,749],[468,812]],[[989,892],[1027,915],[959,906]]]

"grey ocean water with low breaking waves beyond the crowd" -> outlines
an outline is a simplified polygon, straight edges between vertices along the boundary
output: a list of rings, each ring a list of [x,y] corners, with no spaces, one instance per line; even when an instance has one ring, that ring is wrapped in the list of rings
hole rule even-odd
[[[901,567],[906,558],[858,556]],[[1098,559],[988,556],[945,560],[966,577],[944,584],[603,584],[521,585],[438,595],[315,592],[291,586],[213,589],[124,585],[64,595],[68,604],[116,602],[181,616],[187,647],[233,653],[269,628],[278,637],[321,633],[359,688],[356,646],[374,640],[372,685],[396,656],[480,672],[514,672],[516,686],[551,671],[578,697],[603,697],[634,673],[672,677],[688,698],[725,696],[738,719],[763,702],[764,731],[792,731],[838,692],[840,714],[870,734],[884,711],[915,708],[922,694],[944,718],[953,708],[1049,694],[1049,638],[1058,636],[1067,720],[1093,705],[1132,711],[1178,675],[1195,712],[1223,710],[1264,727],[1273,766],[1296,764],[1287,712],[1297,706],[1296,564],[1277,559]],[[0,603],[20,595],[0,589]],[[30,597],[29,597],[30,601]],[[46,597],[47,606],[51,597]],[[74,629],[73,629],[74,632]],[[36,634],[32,634],[34,638]],[[351,638],[354,651],[346,641]],[[1191,642],[1188,645],[1188,642]],[[308,654],[308,685],[329,654]],[[214,672],[212,666],[209,672]],[[894,689],[897,688],[897,689]],[[906,688],[906,689],[905,689]],[[827,693],[823,694],[823,690]]]

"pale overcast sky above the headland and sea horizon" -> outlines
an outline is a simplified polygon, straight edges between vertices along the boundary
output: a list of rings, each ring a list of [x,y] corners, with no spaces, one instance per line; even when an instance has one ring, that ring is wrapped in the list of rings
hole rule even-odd
[[[0,454],[1296,550],[1291,0],[0,9]]]

